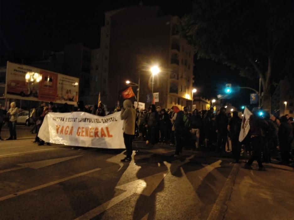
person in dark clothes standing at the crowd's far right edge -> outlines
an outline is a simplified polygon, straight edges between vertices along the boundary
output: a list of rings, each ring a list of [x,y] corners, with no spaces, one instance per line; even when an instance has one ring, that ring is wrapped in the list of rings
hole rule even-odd
[[[282,163],[284,165],[289,165],[291,141],[293,138],[293,128],[288,121],[289,120],[286,118],[286,116],[282,116],[280,118],[281,124],[279,126],[279,133],[278,133]]]

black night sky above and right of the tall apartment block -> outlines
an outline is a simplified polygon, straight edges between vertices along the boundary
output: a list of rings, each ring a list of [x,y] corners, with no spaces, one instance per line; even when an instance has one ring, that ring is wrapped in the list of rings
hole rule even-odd
[[[36,60],[42,50],[62,51],[64,44],[83,42],[86,47],[98,48],[100,27],[104,24],[104,12],[140,1],[23,1],[0,0],[1,65],[3,56],[20,62]],[[164,14],[182,16],[192,10],[192,1],[143,1],[144,5],[158,5]],[[4,62],[4,63],[3,63]],[[194,61],[195,87],[198,94],[216,97],[226,83],[233,86],[251,86],[258,90],[258,79],[241,77],[237,70],[211,60]],[[209,76],[209,77],[208,77]],[[248,90],[241,90],[229,100],[236,107],[249,104]]]

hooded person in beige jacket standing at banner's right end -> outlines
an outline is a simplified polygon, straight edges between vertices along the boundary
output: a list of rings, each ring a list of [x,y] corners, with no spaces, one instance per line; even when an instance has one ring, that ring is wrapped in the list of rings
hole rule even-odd
[[[132,108],[132,102],[129,99],[123,102],[121,119],[123,120],[123,139],[127,151],[127,156],[122,159],[121,162],[127,162],[132,160],[132,141],[133,135],[135,135],[136,120],[136,110]]]

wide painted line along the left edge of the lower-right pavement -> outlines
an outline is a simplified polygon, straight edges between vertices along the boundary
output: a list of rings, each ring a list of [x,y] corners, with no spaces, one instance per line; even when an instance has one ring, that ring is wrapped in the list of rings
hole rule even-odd
[[[229,190],[233,190],[234,180],[237,176],[239,170],[238,164],[235,164],[234,167],[231,170],[230,175],[228,176],[223,188],[221,189],[220,194],[218,195],[215,204],[213,205],[210,214],[207,218],[207,220],[212,219],[223,219],[223,216],[220,218],[221,212],[225,212],[225,210],[221,211],[222,206],[224,205],[224,202],[227,202],[229,199]]]

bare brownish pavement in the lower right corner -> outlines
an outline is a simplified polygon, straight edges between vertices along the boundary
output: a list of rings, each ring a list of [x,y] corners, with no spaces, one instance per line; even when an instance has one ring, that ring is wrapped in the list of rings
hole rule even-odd
[[[240,165],[224,219],[293,219],[294,169],[265,164],[267,171]]]

